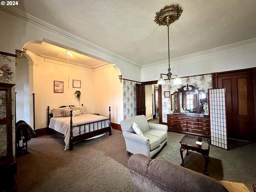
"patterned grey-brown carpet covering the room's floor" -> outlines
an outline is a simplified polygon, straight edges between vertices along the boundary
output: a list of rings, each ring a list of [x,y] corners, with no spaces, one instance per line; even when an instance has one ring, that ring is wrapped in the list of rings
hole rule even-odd
[[[181,133],[168,132],[167,146],[158,154],[175,164],[181,163]],[[256,143],[230,140],[230,150],[210,146],[208,172],[216,180],[242,182],[252,192],[256,182]],[[32,138],[29,154],[18,156],[14,176],[18,192],[133,192],[127,168],[129,156],[122,132],[80,142],[65,151],[64,141],[54,135]],[[202,155],[184,152],[184,167],[204,172]],[[184,178],[185,179],[185,178]]]

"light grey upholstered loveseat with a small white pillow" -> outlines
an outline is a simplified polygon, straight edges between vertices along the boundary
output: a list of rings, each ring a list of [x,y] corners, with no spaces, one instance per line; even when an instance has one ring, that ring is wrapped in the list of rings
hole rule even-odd
[[[136,123],[143,133],[136,134],[132,128]],[[150,158],[157,154],[167,144],[168,127],[162,124],[148,123],[146,116],[138,115],[120,121],[128,156],[144,154]]]

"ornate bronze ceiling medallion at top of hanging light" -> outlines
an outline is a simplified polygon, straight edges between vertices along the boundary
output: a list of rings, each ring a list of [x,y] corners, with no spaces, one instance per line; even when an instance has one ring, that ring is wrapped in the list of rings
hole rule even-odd
[[[182,9],[178,4],[176,5],[166,5],[160,12],[156,12],[156,19],[154,20],[159,25],[170,25],[174,21],[178,20]]]

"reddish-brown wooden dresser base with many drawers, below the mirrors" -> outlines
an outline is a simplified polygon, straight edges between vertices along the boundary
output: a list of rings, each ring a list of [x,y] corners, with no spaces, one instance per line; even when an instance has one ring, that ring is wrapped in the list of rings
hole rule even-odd
[[[167,114],[168,131],[210,136],[209,118],[199,115]]]

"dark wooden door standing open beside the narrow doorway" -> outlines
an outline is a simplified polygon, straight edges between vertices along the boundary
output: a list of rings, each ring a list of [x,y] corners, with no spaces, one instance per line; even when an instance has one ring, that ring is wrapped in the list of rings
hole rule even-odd
[[[136,84],[136,115],[146,116],[145,85]]]

